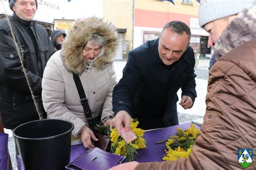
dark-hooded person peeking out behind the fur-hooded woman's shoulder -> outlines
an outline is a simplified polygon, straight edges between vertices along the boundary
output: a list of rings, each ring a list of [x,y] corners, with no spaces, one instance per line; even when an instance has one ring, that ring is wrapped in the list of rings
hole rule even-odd
[[[51,43],[55,50],[58,51],[62,48],[62,44],[66,37],[66,32],[64,30],[54,30],[51,33]]]

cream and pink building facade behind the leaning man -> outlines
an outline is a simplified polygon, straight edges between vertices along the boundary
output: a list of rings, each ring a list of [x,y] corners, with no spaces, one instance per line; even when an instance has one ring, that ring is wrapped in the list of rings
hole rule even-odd
[[[198,25],[199,1],[196,0],[104,0],[104,18],[119,28],[122,34],[123,59],[131,49],[144,42],[158,38],[163,26],[180,20],[190,26],[190,45],[200,57],[210,57],[212,49],[207,46],[208,33]]]

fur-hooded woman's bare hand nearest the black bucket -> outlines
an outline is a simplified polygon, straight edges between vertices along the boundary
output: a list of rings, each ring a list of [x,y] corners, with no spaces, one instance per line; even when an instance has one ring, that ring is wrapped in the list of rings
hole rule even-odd
[[[93,132],[91,131],[90,128],[84,126],[80,132],[80,137],[81,137],[81,140],[84,144],[84,147],[87,147],[87,148],[93,148],[95,147],[93,144],[92,144],[92,141],[91,141],[91,138],[95,141],[98,141],[98,139],[95,137],[95,135],[93,134]]]

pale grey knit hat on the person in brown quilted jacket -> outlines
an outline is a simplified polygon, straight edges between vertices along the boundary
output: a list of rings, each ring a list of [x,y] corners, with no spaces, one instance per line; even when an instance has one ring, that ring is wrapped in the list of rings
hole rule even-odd
[[[199,25],[235,15],[245,8],[251,8],[256,0],[201,0],[199,7]]]

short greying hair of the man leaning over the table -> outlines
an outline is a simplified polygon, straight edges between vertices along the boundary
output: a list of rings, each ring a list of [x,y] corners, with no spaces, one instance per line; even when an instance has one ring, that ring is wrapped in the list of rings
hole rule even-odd
[[[163,31],[167,28],[171,28],[172,31],[177,33],[179,36],[185,32],[188,35],[188,43],[190,42],[191,31],[190,27],[188,27],[187,24],[177,20],[173,20],[172,22],[165,24]]]

